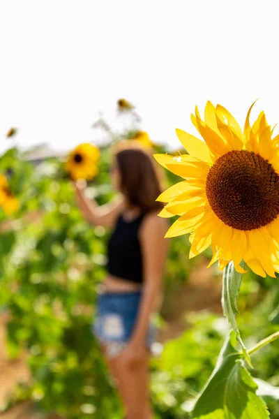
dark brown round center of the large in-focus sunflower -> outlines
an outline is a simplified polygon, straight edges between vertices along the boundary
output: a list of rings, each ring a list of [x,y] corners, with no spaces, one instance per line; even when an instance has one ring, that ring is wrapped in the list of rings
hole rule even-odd
[[[253,230],[271,223],[279,214],[279,176],[259,154],[228,152],[209,170],[206,196],[213,212],[227,226]]]

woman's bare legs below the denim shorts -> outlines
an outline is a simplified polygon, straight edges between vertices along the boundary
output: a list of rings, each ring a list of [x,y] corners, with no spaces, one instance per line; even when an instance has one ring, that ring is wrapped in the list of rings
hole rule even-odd
[[[136,367],[124,368],[121,355],[109,358],[107,365],[126,408],[127,419],[152,419],[153,413],[149,400],[149,358],[146,357]]]

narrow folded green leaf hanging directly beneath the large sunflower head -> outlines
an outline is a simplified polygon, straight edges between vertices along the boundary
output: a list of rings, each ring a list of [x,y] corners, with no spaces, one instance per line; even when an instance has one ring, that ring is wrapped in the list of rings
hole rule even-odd
[[[227,316],[227,320],[229,321],[229,324],[232,326],[236,334],[236,339],[241,344],[244,357],[246,361],[248,362],[248,365],[252,367],[250,356],[248,355],[246,346],[244,345],[243,340],[241,339],[239,327],[236,323],[236,315],[239,313],[239,310],[237,309],[237,306],[236,306],[236,302],[239,297],[241,278],[242,278],[242,274],[239,274],[239,272],[236,272],[236,270],[234,269],[234,263],[230,262],[225,267],[224,274],[223,274],[222,306],[223,306],[224,314],[225,316]]]

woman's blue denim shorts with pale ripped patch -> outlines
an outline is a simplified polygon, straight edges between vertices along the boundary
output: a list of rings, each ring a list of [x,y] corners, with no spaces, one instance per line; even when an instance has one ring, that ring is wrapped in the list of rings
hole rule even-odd
[[[93,333],[105,346],[109,358],[119,355],[133,333],[142,293],[102,293],[98,295],[97,316]],[[146,346],[151,346],[156,337],[156,327],[150,323],[146,335]]]

